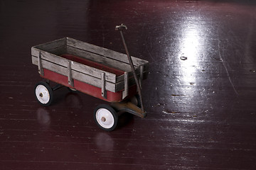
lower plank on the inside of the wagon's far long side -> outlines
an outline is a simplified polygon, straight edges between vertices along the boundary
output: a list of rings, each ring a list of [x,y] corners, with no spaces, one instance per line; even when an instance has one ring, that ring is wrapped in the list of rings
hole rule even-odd
[[[106,66],[112,67],[114,69],[119,69],[124,72],[131,72],[131,67],[129,66],[129,64],[126,64],[124,62],[119,62],[116,60],[112,60],[107,57],[102,57],[101,55],[97,55],[92,52],[87,52],[85,50],[81,50],[79,48],[72,47],[72,46],[67,46],[67,52],[70,55],[75,55],[78,57],[85,58],[87,60],[92,60],[92,61],[98,62],[100,64],[104,64]]]

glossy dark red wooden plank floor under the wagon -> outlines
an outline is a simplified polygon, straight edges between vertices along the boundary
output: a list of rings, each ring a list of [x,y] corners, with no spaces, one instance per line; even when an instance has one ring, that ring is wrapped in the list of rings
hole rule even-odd
[[[68,89],[41,107],[31,47],[63,37],[149,60],[144,119],[117,130]],[[0,169],[256,169],[253,1],[0,1]]]

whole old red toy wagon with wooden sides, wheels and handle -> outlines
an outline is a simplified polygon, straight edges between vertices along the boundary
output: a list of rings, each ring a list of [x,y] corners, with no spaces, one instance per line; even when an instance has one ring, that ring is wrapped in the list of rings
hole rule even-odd
[[[35,86],[37,101],[50,106],[53,91],[67,86],[110,102],[97,106],[94,111],[95,122],[103,130],[116,128],[117,113],[128,112],[144,118],[141,83],[149,72],[149,62],[129,56],[123,28],[126,27],[116,27],[127,55],[73,38],[33,46],[32,63],[38,65],[39,74],[46,79]],[[50,87],[50,81],[58,85]]]

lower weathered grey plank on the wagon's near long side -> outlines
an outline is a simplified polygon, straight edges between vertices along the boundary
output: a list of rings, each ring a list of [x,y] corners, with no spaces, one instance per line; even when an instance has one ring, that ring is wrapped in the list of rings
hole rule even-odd
[[[36,56],[32,56],[32,63],[38,65],[38,59]],[[59,64],[55,64],[52,62],[48,62],[47,60],[42,60],[43,68],[49,69],[50,71],[57,72],[59,74],[67,76],[67,68],[63,67]],[[92,77],[87,74],[83,74],[82,72],[77,72],[72,69],[72,77],[73,79],[77,79],[79,81],[85,82],[87,84],[91,84],[92,86],[97,86],[101,88],[101,79],[98,79],[97,77]],[[107,91],[117,92],[115,91],[115,84],[106,81],[105,88]]]

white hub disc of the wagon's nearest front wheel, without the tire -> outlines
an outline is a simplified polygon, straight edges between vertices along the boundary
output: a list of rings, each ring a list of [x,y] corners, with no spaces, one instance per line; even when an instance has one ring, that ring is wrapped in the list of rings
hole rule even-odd
[[[112,128],[114,125],[114,117],[110,111],[106,108],[99,108],[96,112],[97,123],[102,126],[102,128]]]

